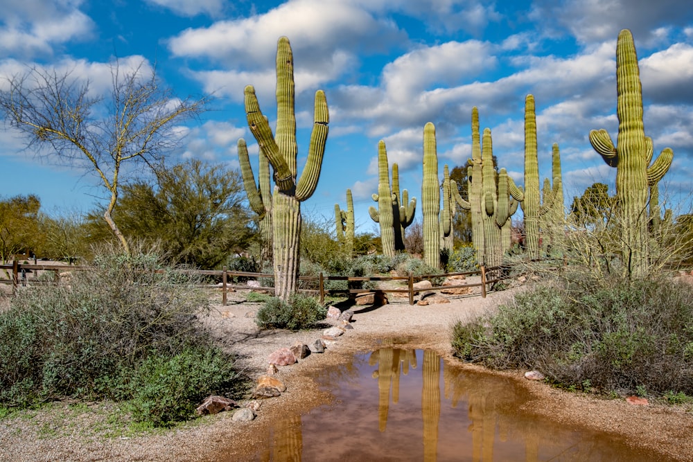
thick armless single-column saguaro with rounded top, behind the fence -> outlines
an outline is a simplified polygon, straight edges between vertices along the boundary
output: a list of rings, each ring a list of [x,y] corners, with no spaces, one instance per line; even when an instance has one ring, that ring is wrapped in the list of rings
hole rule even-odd
[[[423,181],[421,183],[423,211],[423,260],[430,267],[440,267],[440,184],[435,125],[423,127]]]

